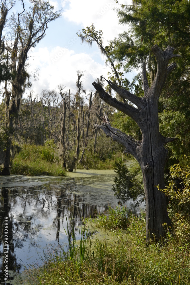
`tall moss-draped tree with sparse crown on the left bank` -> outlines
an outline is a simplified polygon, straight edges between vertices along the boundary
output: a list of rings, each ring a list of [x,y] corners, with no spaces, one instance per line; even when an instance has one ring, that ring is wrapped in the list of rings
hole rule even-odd
[[[14,77],[11,81],[11,92],[7,90],[7,82],[5,82],[5,101],[9,103],[6,106],[7,112],[5,115],[10,135],[7,140],[8,146],[2,171],[4,175],[10,174],[11,140],[17,125],[24,88],[29,79],[29,74],[26,70],[28,52],[44,38],[48,24],[61,15],[60,11],[54,12],[54,7],[48,1],[31,0],[32,7],[30,7],[30,12],[25,10],[23,0],[20,2],[22,3],[23,11],[17,14],[17,18],[15,14],[12,15],[11,20],[13,24],[11,30],[9,30],[9,34],[14,37],[14,41],[7,41],[5,46],[7,52],[11,54],[10,65]]]

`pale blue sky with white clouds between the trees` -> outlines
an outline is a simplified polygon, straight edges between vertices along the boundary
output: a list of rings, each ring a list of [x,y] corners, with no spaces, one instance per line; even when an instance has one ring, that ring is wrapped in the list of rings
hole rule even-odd
[[[120,4],[131,5],[131,2],[132,0],[122,0]],[[104,46],[107,45],[108,40],[128,29],[127,26],[118,24],[114,7],[119,8],[120,5],[114,0],[51,0],[50,3],[55,10],[63,9],[62,17],[49,24],[46,36],[29,53],[32,90],[34,94],[40,94],[42,89],[58,91],[57,86],[63,85],[65,90],[70,89],[74,94],[77,70],[84,73],[84,89],[93,90],[92,82],[100,75],[108,78],[109,68],[96,43],[91,48],[87,44],[81,44],[76,32],[93,23],[96,30],[103,31]],[[32,76],[36,69],[38,80]],[[132,79],[133,75],[128,74],[128,79]]]

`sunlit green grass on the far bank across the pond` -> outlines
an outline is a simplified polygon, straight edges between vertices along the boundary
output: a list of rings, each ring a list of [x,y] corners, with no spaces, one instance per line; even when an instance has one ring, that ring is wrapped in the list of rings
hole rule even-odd
[[[83,159],[82,164],[77,165],[77,169],[84,169],[84,165],[89,169],[114,169],[115,160],[121,158],[121,152],[113,152],[109,158],[102,158],[97,154],[92,155],[87,152],[85,160]],[[55,145],[48,143],[44,146],[23,144],[15,155],[11,174],[65,176],[66,171],[61,167]]]

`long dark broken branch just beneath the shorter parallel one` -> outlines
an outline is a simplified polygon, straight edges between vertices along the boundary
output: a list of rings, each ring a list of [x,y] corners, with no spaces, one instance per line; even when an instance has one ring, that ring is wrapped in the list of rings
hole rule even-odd
[[[138,121],[139,111],[137,108],[128,105],[127,103],[119,102],[117,99],[112,98],[100,84],[97,84],[95,81],[92,83],[94,88],[98,91],[100,98],[108,103],[108,105],[116,108],[117,110],[123,112],[124,114],[131,117],[134,121]]]

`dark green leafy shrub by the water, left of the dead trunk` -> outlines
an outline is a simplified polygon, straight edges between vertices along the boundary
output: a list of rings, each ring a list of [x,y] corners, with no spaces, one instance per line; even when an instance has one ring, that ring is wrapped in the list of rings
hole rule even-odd
[[[115,168],[117,176],[114,179],[112,188],[114,195],[123,203],[130,199],[135,201],[143,196],[136,202],[136,206],[138,206],[140,202],[144,201],[142,173],[139,164],[134,163],[132,167],[128,168],[120,160],[119,162],[115,161]],[[119,201],[119,203],[121,202]]]

